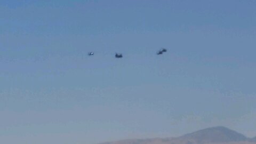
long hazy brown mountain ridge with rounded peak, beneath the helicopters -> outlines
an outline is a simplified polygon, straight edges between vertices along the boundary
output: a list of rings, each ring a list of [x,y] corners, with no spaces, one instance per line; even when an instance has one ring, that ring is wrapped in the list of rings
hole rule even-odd
[[[256,144],[256,137],[249,139],[227,127],[217,126],[188,133],[177,138],[121,140],[100,144]]]

